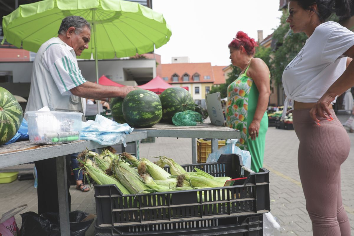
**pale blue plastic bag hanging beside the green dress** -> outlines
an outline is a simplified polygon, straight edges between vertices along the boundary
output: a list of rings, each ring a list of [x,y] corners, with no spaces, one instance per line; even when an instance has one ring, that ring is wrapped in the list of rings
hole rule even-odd
[[[226,140],[226,145],[221,147],[216,152],[209,154],[206,162],[217,162],[221,154],[239,154],[242,157],[243,165],[251,169],[251,154],[249,151],[241,150],[238,146],[236,146],[235,144],[237,141],[238,139]]]

